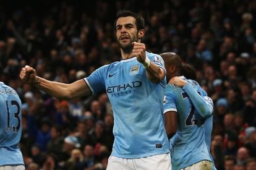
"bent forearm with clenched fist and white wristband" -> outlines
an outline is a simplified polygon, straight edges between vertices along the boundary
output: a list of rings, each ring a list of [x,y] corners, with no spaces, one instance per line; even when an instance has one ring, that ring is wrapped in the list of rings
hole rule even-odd
[[[132,53],[137,57],[137,60],[142,63],[143,67],[146,69],[148,80],[154,83],[159,83],[164,79],[164,69],[157,66],[155,63],[151,62],[150,59],[148,59],[146,56],[146,48],[143,43],[134,42],[134,49],[132,50]]]

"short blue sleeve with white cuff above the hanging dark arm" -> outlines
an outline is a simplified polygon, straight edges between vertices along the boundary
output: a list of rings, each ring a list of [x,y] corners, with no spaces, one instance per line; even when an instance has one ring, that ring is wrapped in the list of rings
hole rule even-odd
[[[176,100],[174,97],[174,92],[173,89],[171,88],[170,85],[166,85],[166,89],[165,89],[165,95],[164,95],[164,104],[163,104],[163,108],[164,108],[164,113],[167,113],[168,111],[176,111],[177,112],[177,108],[176,108]]]

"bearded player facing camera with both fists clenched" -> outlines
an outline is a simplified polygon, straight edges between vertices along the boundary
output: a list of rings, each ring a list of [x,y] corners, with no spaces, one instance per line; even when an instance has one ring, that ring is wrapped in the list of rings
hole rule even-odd
[[[30,66],[22,68],[20,79],[56,98],[78,98],[106,90],[114,113],[115,137],[107,169],[170,169],[163,116],[163,59],[146,52],[141,43],[143,17],[119,11],[115,27],[122,61],[102,66],[70,84],[42,79]]]

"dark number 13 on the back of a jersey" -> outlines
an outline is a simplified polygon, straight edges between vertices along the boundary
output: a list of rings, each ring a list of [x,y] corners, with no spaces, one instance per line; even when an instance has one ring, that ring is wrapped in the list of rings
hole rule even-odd
[[[18,119],[18,124],[17,126],[14,126],[12,125],[12,130],[14,132],[18,132],[19,129],[20,129],[20,117],[19,117],[19,114],[20,114],[20,105],[17,101],[15,100],[12,100],[11,101],[11,106],[16,106],[17,107],[17,112],[14,112],[14,113],[10,113],[10,109],[9,109],[9,106],[8,106],[8,103],[6,101],[6,108],[7,108],[7,127],[6,127],[6,132],[10,132],[10,114],[14,114],[14,117],[16,119]]]

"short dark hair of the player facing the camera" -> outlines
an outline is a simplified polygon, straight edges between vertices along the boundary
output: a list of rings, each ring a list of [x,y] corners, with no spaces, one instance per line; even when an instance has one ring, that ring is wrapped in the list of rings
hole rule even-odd
[[[123,10],[120,10],[117,12],[116,14],[116,20],[114,22],[114,30],[116,31],[116,22],[119,18],[121,17],[134,17],[135,20],[136,20],[136,27],[137,27],[137,30],[142,30],[144,29],[145,27],[145,20],[144,18],[142,17],[142,15],[139,15],[139,14],[135,14],[134,12],[132,11],[129,11],[129,10],[126,10],[126,9],[123,9]]]

